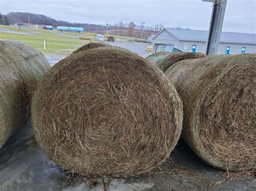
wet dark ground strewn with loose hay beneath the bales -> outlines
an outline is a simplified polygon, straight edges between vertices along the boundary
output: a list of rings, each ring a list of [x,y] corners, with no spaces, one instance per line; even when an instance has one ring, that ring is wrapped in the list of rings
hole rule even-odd
[[[38,147],[30,119],[0,150],[0,190],[255,190],[255,176],[207,166],[180,140],[169,160],[129,179],[65,172]]]

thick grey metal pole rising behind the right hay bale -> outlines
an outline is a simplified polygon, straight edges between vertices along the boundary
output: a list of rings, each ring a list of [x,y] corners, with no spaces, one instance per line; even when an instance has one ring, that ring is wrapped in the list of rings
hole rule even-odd
[[[219,41],[223,20],[226,10],[227,0],[202,0],[204,2],[212,2],[212,16],[208,32],[207,40],[207,55],[214,55],[218,53]]]

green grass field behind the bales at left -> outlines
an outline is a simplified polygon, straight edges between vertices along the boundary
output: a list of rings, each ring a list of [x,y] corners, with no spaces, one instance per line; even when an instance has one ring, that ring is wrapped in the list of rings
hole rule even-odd
[[[1,31],[1,29],[3,29]],[[133,40],[134,38],[114,36],[123,40]],[[79,37],[91,38],[91,40],[80,40]],[[107,37],[107,35],[105,35]],[[75,33],[49,31],[33,28],[19,28],[15,26],[0,25],[0,40],[17,40],[22,43],[38,48],[41,52],[66,54],[75,51],[80,46],[96,41],[96,33]],[[44,40],[46,49],[44,49]]]

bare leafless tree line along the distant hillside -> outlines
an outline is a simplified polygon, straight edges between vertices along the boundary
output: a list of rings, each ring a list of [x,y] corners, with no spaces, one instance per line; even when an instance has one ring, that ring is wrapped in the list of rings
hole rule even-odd
[[[156,34],[163,29],[162,24],[155,24],[152,26],[145,25],[145,22],[141,23],[124,23],[119,21],[118,23],[109,24],[108,27],[104,25],[96,25],[89,23],[71,23],[63,20],[56,20],[51,17],[34,14],[29,12],[10,12],[8,15],[4,16],[6,25],[9,24],[22,24],[22,23],[33,23],[37,25],[51,25],[53,27],[57,26],[76,26],[83,27],[84,31],[96,32],[100,34],[105,34],[108,29],[109,34],[127,36],[134,38],[147,38],[151,34]],[[8,22],[6,22],[6,19]]]

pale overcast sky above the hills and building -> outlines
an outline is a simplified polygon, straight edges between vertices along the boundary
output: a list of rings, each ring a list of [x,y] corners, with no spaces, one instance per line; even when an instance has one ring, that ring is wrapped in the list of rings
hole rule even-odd
[[[223,31],[256,33],[256,0],[227,0]],[[78,23],[119,20],[208,30],[212,3],[201,0],[0,0],[0,11],[39,13]]]

